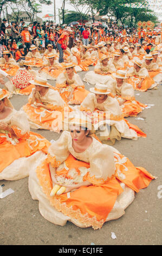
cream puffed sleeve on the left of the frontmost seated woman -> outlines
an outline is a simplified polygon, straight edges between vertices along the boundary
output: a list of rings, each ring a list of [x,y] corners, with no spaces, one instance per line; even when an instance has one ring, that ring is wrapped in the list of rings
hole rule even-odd
[[[54,168],[60,166],[60,164],[69,156],[68,141],[70,133],[63,131],[60,138],[53,142],[48,149],[48,163]]]

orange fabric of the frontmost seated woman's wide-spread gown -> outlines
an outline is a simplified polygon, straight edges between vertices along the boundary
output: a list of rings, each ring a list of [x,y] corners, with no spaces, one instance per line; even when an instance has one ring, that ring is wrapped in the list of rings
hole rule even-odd
[[[46,194],[50,204],[53,205],[56,210],[61,211],[70,218],[75,218],[87,226],[92,225],[94,229],[98,229],[102,227],[109,212],[113,209],[116,198],[123,192],[120,182],[124,182],[135,192],[139,192],[141,188],[147,187],[151,180],[154,179],[144,168],[134,167],[126,157],[126,162],[121,163],[123,157],[123,155],[114,154],[116,167],[115,175],[106,181],[105,184],[100,186],[82,186],[73,192],[71,191],[70,197],[67,193],[50,197],[50,191],[53,186],[47,160],[37,168],[37,178],[42,187],[42,191]],[[67,167],[75,168],[77,173],[79,173],[79,167],[89,167],[89,163],[77,161],[72,155],[69,155],[65,163]],[[124,174],[124,179],[120,178],[120,173]],[[57,175],[62,174],[66,175],[68,179],[72,178],[69,177],[66,169],[57,172]],[[88,175],[89,174],[86,174],[83,179],[86,180]]]

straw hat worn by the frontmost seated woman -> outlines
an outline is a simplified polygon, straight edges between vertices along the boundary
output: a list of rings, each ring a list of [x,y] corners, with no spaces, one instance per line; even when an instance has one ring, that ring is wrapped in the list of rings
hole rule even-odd
[[[70,125],[87,128],[90,131],[93,130],[92,120],[87,115],[83,114],[82,112],[70,113],[67,121],[63,120],[63,123],[68,125],[68,130],[69,130]],[[65,127],[64,127],[64,129],[65,129]],[[91,132],[91,133],[93,133],[93,132]]]

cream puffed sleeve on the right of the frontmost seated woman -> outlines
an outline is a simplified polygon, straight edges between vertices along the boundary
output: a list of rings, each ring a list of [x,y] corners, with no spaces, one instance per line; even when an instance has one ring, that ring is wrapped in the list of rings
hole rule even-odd
[[[113,150],[106,144],[95,144],[89,157],[90,169],[86,180],[94,185],[102,185],[115,173]]]

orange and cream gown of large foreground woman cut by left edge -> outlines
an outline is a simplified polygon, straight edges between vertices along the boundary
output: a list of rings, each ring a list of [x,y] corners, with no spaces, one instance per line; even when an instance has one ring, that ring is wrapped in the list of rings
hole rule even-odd
[[[0,119],[15,132],[0,130],[0,180],[18,180],[29,175],[46,158],[50,142],[41,135],[30,132],[28,119],[22,111],[12,109]]]

